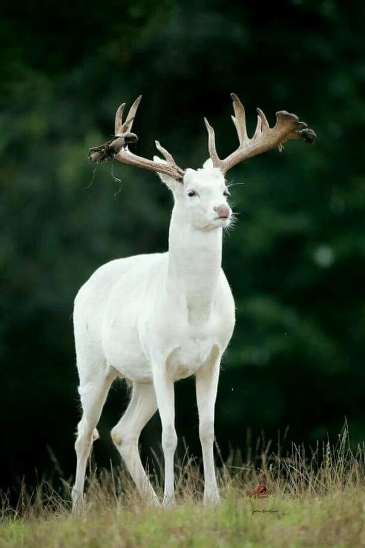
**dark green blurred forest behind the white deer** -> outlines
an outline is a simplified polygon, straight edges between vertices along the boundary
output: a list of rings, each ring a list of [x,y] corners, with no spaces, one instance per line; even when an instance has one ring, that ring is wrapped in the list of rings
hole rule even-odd
[[[72,305],[103,262],[166,250],[172,197],[157,176],[115,164],[93,173],[88,147],[142,94],[137,151],[154,139],[182,167],[237,144],[230,93],[271,124],[288,110],[314,146],[289,142],[229,173],[239,223],[223,267],[237,323],[224,359],[216,435],[227,458],[246,432],[266,441],[365,438],[365,8],[361,2],[8,3],[0,24],[0,486],[74,472],[79,418]],[[120,179],[121,182],[118,181]],[[177,431],[200,455],[194,381],[176,386]],[[95,444],[126,407],[115,385]],[[143,432],[159,454],[159,419]],[[183,454],[183,443],[180,446]],[[55,467],[55,459],[58,464]],[[38,479],[37,479],[38,478]]]

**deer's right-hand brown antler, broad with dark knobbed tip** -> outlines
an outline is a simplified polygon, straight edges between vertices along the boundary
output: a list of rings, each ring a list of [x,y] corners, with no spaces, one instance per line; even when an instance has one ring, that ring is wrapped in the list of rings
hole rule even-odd
[[[216,150],[215,133],[212,126],[204,118],[208,132],[208,149],[214,167],[221,169],[223,173],[233,168],[239,162],[257,156],[266,150],[273,149],[275,146],[282,150],[282,142],[289,139],[303,139],[311,145],[316,140],[316,134],[309,129],[304,122],[299,122],[298,116],[290,114],[286,110],[276,112],[276,124],[273,128],[269,127],[266,116],[262,110],[257,109],[256,131],[251,139],[247,136],[245,109],[241,101],[234,93],[231,94],[233,100],[233,110],[235,116],[231,116],[235,125],[240,145],[227,158],[221,160]]]

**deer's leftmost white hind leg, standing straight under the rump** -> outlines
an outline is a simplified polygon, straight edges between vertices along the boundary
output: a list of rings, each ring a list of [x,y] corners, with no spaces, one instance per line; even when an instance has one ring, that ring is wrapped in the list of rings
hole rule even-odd
[[[92,442],[99,437],[96,425],[99,423],[101,411],[105,403],[109,388],[115,379],[115,370],[102,367],[99,373],[83,381],[80,377],[79,394],[83,410],[82,419],[77,427],[76,450],[76,479],[72,489],[72,511],[82,509],[86,464],[90,455]]]

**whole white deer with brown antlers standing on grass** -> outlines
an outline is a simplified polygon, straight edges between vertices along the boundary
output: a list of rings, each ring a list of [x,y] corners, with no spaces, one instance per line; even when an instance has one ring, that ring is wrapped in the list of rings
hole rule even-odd
[[[235,164],[279,146],[288,139],[315,139],[297,116],[276,113],[270,129],[258,111],[256,132],[247,137],[245,111],[231,95],[239,147],[219,159],[213,128],[205,119],[210,159],[202,169],[179,168],[159,142],[165,160],[129,152],[139,97],[122,122],[115,117],[115,158],[157,172],[172,191],[169,251],[117,259],[101,266],[79,290],[74,303],[74,335],[83,415],[75,443],[74,510],[82,501],[86,461],[97,439],[97,423],[109,387],[117,376],[132,383],[128,409],[112,430],[112,439],[144,498],[159,504],[138,453],[140,433],[159,410],[165,461],[163,503],[173,500],[173,458],[177,437],[173,383],[195,375],[199,436],[204,465],[204,503],[219,500],[213,460],[214,409],[219,366],[235,323],[233,296],[221,268],[222,229],[231,219],[224,174]],[[111,145],[111,147],[112,147]],[[101,148],[101,147],[99,147]],[[95,149],[96,150],[96,149]]]

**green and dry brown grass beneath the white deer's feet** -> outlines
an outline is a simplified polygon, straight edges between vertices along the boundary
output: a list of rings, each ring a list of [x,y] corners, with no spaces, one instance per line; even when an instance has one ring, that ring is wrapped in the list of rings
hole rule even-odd
[[[0,548],[160,548],[365,546],[364,448],[349,448],[346,429],[337,447],[317,447],[310,457],[260,456],[220,473],[222,502],[201,503],[202,479],[192,461],[177,470],[177,504],[144,505],[125,473],[91,477],[82,516],[44,485],[11,509],[3,496]],[[251,499],[264,484],[271,495]]]

